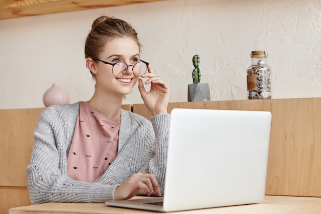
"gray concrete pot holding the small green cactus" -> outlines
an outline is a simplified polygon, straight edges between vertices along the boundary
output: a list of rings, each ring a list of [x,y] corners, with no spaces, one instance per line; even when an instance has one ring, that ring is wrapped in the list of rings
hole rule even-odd
[[[210,101],[210,87],[208,83],[194,83],[188,85],[187,101]]]

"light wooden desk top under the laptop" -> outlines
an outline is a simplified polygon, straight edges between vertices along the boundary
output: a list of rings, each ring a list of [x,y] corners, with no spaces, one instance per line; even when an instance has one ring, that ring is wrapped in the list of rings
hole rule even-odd
[[[142,211],[135,209],[109,207],[105,204],[82,204],[82,203],[46,203],[24,207],[11,208],[9,214],[26,214],[26,213],[157,213],[153,211]],[[266,196],[263,203],[250,204],[231,207],[219,207],[211,209],[198,209],[173,213],[237,213],[237,214],[319,214],[321,213],[321,198],[312,197],[288,197],[288,196]]]

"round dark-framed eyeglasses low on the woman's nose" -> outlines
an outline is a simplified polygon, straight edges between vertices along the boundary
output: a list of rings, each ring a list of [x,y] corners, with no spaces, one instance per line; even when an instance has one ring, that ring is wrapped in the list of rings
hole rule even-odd
[[[135,65],[127,65],[124,62],[108,63],[99,59],[95,59],[95,60],[101,61],[102,63],[108,64],[108,65],[112,65],[113,66],[112,72],[116,77],[124,76],[127,73],[129,66],[132,66],[132,70],[135,76],[137,77],[141,76],[142,74],[146,73],[147,66],[149,65],[148,62],[145,62],[143,60],[139,60],[139,62],[136,63]]]

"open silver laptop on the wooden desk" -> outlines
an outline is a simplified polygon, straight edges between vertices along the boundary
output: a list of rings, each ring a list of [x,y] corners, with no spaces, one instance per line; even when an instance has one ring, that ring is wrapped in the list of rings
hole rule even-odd
[[[260,203],[270,129],[270,112],[173,109],[164,197],[106,204],[170,212]]]

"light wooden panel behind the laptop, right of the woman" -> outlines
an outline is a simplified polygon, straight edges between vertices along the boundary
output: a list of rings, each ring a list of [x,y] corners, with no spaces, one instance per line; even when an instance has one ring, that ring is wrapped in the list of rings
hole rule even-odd
[[[170,103],[173,108],[272,112],[266,194],[321,197],[321,98]],[[133,112],[150,118],[144,104]]]

